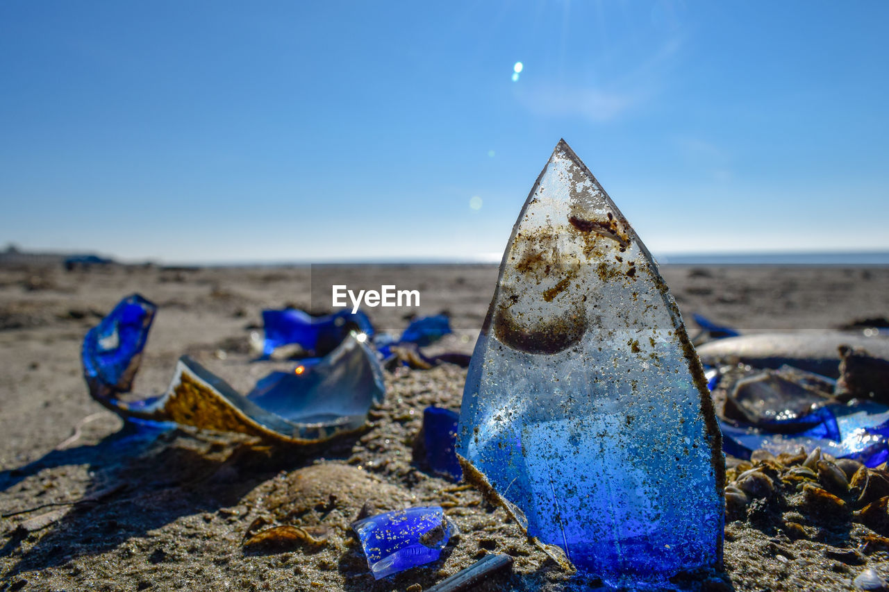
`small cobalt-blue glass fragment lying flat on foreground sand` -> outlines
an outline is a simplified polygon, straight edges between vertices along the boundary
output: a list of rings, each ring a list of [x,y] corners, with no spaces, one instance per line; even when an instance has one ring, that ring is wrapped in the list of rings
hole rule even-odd
[[[367,566],[377,580],[392,573],[437,561],[456,534],[442,508],[406,508],[358,520],[352,524]]]

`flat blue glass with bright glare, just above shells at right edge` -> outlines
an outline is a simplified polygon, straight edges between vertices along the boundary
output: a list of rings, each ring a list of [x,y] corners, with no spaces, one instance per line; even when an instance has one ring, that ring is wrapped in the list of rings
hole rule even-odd
[[[797,434],[775,434],[720,421],[723,448],[726,454],[741,459],[749,459],[750,453],[760,448],[778,454],[795,452],[800,446],[807,451],[821,446],[821,452],[837,459],[858,460],[868,467],[889,459],[889,407],[885,405],[830,404],[801,421],[807,428]]]

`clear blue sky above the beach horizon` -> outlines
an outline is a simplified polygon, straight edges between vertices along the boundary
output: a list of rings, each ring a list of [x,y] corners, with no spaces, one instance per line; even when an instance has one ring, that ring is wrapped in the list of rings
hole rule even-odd
[[[5,0],[0,243],[499,259],[564,137],[655,253],[887,250],[887,20],[811,0]]]

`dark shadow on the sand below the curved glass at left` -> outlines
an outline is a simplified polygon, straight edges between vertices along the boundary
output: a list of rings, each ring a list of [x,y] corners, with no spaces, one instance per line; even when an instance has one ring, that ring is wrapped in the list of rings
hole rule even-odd
[[[324,458],[348,458],[351,447],[351,441],[331,443],[324,449]],[[278,471],[311,463],[316,453],[245,442],[236,436],[130,423],[98,444],[49,452],[21,468],[0,472],[0,491],[44,468],[85,464],[91,469],[92,483],[84,497],[108,493],[100,501],[72,505],[49,526],[49,532],[28,533],[19,528],[5,533],[8,540],[0,547],[0,557],[20,553],[18,549],[28,537],[40,539],[21,553],[4,577],[12,579],[65,564],[76,556],[103,553],[180,516],[236,505]],[[25,516],[39,516],[51,509]]]

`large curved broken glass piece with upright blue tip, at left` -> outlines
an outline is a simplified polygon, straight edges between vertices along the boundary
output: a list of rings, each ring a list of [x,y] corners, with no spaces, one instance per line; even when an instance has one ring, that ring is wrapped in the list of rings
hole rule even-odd
[[[287,444],[316,444],[364,427],[385,395],[376,353],[348,333],[339,347],[293,372],[272,372],[248,396],[189,356],[182,356],[164,396],[123,401],[155,312],[131,296],[84,339],[84,377],[97,401],[126,420],[237,432]],[[101,345],[104,343],[104,345]],[[103,357],[106,356],[106,357]]]

